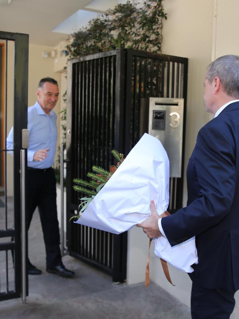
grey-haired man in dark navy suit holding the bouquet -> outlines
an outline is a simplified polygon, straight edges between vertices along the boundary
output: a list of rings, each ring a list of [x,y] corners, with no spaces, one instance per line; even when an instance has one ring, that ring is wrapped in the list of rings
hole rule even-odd
[[[239,56],[212,62],[204,86],[214,118],[199,131],[189,159],[187,207],[161,219],[151,203],[151,216],[138,226],[149,238],[163,234],[171,246],[196,236],[192,318],[226,319],[239,289]]]

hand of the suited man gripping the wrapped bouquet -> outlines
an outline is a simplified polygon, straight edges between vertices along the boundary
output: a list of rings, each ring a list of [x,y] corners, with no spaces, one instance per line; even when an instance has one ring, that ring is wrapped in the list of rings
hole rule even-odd
[[[151,200],[150,211],[151,215],[145,221],[136,226],[143,227],[143,231],[148,236],[148,238],[158,238],[162,236],[158,228],[158,220],[159,218],[168,216],[169,213],[168,211],[165,211],[163,214],[159,216],[155,209],[155,204],[153,200]]]

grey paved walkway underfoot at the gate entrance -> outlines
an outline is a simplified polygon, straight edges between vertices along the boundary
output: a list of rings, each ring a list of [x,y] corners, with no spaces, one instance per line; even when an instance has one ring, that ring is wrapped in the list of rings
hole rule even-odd
[[[189,319],[190,309],[151,283],[115,285],[112,278],[78,260],[64,256],[74,278],[62,278],[45,270],[45,248],[38,212],[29,230],[29,257],[42,270],[29,276],[29,296],[0,302],[1,319]]]

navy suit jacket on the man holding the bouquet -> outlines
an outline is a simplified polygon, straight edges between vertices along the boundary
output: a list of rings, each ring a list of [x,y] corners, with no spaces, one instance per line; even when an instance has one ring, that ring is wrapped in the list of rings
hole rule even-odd
[[[187,207],[162,219],[171,246],[196,236],[191,279],[205,288],[239,289],[239,102],[198,133],[187,167]]]

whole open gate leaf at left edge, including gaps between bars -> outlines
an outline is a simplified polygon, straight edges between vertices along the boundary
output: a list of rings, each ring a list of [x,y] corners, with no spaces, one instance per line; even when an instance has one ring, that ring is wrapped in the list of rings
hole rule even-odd
[[[20,149],[22,129],[27,129],[27,74],[28,35],[0,31],[0,301],[18,298],[23,291]],[[13,157],[6,150],[12,126]]]

